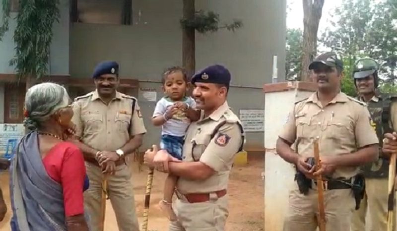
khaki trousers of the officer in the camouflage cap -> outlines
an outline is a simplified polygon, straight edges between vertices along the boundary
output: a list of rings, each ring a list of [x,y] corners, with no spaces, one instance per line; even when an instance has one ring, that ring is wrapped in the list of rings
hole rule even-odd
[[[355,200],[351,189],[324,191],[327,231],[350,231]],[[316,231],[318,227],[318,193],[310,189],[303,195],[298,189],[289,192],[289,205],[283,231]]]

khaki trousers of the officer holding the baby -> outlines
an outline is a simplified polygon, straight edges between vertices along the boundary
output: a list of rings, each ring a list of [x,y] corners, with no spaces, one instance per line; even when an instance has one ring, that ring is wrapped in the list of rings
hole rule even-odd
[[[217,198],[213,194],[209,201],[199,203],[177,199],[173,208],[178,221],[170,223],[169,231],[224,231],[228,195]]]

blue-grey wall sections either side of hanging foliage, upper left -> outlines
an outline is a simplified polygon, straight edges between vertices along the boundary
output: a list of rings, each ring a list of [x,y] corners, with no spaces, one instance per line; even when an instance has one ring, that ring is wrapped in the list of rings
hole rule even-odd
[[[0,10],[0,18],[2,18]],[[49,71],[53,75],[69,74],[69,1],[60,1],[60,22],[54,23],[54,37],[50,48]],[[10,13],[9,30],[0,41],[0,74],[15,73],[14,67],[9,66],[9,60],[15,56],[15,43],[13,39],[16,28],[17,13]],[[2,23],[2,22],[0,22]]]

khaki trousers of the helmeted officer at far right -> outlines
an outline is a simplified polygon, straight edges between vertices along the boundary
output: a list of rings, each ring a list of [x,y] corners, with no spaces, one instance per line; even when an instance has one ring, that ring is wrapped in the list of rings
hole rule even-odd
[[[369,213],[369,220],[365,217]],[[365,195],[361,200],[360,209],[355,211],[351,221],[351,231],[387,230],[388,221],[388,178],[366,178]]]

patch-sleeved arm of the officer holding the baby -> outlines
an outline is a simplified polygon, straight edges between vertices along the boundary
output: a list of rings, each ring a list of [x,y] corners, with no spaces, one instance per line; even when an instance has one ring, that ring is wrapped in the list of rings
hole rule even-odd
[[[226,123],[210,140],[198,162],[171,162],[170,172],[191,179],[207,179],[212,174],[231,167],[242,142],[239,125]]]

